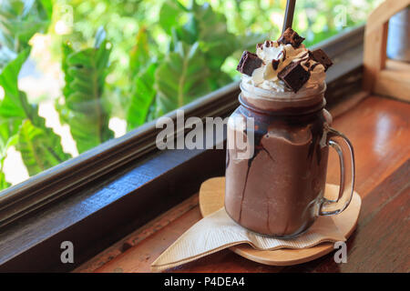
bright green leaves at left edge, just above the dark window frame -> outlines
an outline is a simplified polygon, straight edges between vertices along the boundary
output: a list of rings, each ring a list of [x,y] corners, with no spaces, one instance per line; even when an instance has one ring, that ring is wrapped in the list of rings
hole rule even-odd
[[[6,151],[15,146],[21,153],[28,173],[35,175],[67,160],[60,136],[46,127],[38,115],[37,105],[30,105],[26,93],[17,86],[17,76],[30,50],[26,49],[5,66],[0,74],[0,86],[5,92],[0,102],[0,166],[3,168]],[[7,186],[0,177],[0,186]]]

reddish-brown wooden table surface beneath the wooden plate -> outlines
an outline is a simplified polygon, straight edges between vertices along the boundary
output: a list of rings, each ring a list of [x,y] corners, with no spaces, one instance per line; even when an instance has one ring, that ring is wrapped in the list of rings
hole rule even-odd
[[[264,266],[223,250],[169,272],[409,272],[409,123],[410,104],[374,95],[334,118],[333,127],[354,145],[355,190],[363,199],[358,226],[347,241],[347,263],[334,263],[331,253],[299,266]],[[328,182],[338,183],[338,167],[331,154]],[[200,218],[194,195],[75,272],[149,272],[150,264]]]

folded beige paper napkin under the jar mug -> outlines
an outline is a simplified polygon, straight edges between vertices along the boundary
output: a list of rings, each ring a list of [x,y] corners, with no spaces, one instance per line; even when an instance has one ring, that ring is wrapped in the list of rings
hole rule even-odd
[[[260,250],[276,250],[307,248],[323,242],[345,240],[330,216],[320,216],[301,236],[281,239],[261,236],[241,227],[222,207],[191,226],[152,263],[151,269],[159,272],[240,244],[249,244]]]

